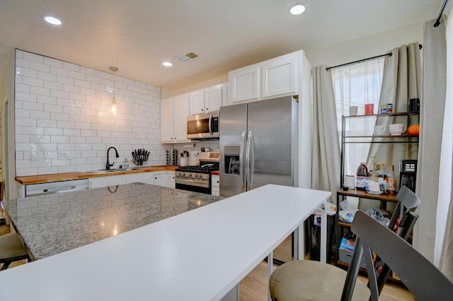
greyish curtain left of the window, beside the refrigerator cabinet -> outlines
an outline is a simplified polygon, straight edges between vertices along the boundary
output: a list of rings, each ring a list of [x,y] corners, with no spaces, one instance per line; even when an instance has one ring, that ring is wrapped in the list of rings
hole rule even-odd
[[[326,66],[312,69],[313,76],[313,136],[311,188],[332,191],[331,203],[336,203],[340,189],[340,143],[336,104],[330,71]]]

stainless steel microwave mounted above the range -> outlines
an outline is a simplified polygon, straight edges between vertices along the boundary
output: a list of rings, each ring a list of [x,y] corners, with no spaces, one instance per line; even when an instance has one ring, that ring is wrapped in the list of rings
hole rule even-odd
[[[188,116],[187,138],[219,138],[219,111]]]

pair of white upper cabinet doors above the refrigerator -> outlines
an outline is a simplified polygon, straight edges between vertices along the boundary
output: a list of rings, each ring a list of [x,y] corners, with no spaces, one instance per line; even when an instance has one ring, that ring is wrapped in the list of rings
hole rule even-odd
[[[304,52],[299,50],[230,71],[230,96],[224,105],[301,93],[303,61]]]

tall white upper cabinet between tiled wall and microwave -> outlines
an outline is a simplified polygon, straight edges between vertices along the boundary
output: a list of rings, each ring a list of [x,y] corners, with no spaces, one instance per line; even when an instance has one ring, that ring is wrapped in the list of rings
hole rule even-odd
[[[188,94],[161,100],[162,143],[185,143],[190,141],[190,139],[187,138],[188,116]]]

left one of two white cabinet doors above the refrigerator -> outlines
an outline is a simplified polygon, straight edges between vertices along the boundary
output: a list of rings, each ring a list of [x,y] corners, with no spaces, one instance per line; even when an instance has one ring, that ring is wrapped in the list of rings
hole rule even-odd
[[[259,75],[260,68],[255,65],[230,71],[228,81],[231,87],[231,102],[257,100],[260,89]]]

